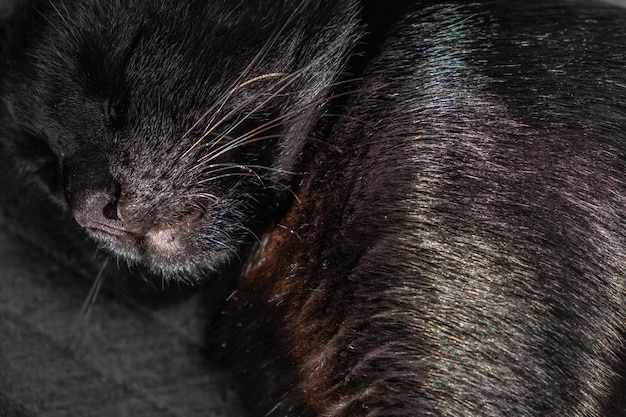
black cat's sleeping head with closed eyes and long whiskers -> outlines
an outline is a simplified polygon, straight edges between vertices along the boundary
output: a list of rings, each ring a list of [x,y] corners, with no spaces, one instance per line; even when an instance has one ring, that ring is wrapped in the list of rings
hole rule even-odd
[[[5,136],[113,253],[166,276],[219,269],[290,186],[352,15],[306,1],[42,1],[3,63]]]

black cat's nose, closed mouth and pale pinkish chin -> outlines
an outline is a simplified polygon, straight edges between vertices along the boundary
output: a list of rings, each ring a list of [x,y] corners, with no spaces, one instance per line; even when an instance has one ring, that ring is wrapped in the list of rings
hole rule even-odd
[[[175,204],[141,204],[125,198],[121,187],[118,192],[66,188],[74,219],[102,249],[166,279],[217,273],[238,260],[239,248],[248,242],[240,213],[228,212],[225,199],[209,204],[179,196]]]

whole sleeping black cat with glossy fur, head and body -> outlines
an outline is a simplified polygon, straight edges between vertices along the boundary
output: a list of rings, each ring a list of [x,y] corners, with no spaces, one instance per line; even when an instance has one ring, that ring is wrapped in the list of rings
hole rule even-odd
[[[50,0],[1,138],[113,256],[236,276],[254,415],[626,415],[626,11]]]

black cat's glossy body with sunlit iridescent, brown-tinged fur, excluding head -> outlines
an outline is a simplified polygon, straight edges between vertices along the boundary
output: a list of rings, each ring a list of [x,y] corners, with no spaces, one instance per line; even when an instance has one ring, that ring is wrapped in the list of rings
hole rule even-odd
[[[431,2],[372,30],[358,92],[231,307],[235,343],[271,335],[262,361],[238,357],[253,385],[257,365],[280,369],[256,401],[615,415],[624,16]]]

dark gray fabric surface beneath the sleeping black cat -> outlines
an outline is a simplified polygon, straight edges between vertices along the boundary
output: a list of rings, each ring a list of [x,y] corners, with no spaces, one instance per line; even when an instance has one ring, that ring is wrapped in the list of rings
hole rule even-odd
[[[0,147],[0,417],[243,415],[207,352],[212,288],[137,297],[138,277],[108,277],[76,330],[103,258],[10,166]]]

